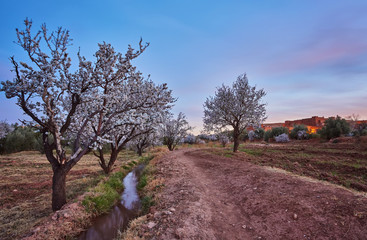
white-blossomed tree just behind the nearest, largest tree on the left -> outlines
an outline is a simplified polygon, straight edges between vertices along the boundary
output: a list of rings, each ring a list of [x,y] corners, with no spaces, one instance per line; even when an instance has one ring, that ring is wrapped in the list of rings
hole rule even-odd
[[[90,65],[92,83],[96,88],[89,101],[79,109],[79,119],[75,123],[87,124],[85,140],[89,135],[98,135],[93,152],[106,174],[112,170],[125,145],[151,131],[175,101],[166,84],[156,85],[144,79],[131,65],[131,56],[137,57],[146,47],[140,42],[139,51],[128,51],[123,56],[110,44],[99,44],[96,63]],[[90,113],[96,113],[91,121],[88,119]],[[108,160],[103,151],[105,144],[110,144],[111,148]]]

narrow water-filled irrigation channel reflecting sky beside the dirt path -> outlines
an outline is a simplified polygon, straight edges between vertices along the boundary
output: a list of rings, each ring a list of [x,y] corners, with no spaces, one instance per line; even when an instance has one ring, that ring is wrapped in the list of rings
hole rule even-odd
[[[119,230],[125,230],[129,221],[137,217],[141,202],[136,185],[144,167],[143,164],[139,165],[126,175],[123,180],[125,188],[121,201],[112,208],[111,212],[97,217],[93,225],[79,236],[79,240],[114,239]]]

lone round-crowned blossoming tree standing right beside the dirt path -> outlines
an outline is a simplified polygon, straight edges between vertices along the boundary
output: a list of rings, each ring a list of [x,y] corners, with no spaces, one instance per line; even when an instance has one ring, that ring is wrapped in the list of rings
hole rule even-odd
[[[266,104],[261,102],[265,95],[263,89],[256,90],[249,85],[246,74],[238,76],[232,87],[223,84],[204,103],[204,128],[220,132],[232,127],[233,152],[236,152],[244,130],[265,121]]]

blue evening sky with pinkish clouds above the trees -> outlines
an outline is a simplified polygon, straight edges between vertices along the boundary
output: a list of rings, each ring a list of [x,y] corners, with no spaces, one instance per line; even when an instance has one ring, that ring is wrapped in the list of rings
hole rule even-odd
[[[76,53],[94,60],[98,43],[124,53],[140,38],[150,46],[134,61],[156,83],[167,83],[194,133],[203,103],[222,84],[246,73],[267,95],[266,122],[311,116],[367,119],[365,0],[116,0],[0,2],[0,81],[11,80],[10,56],[26,61],[16,28],[70,30]],[[0,120],[25,119],[0,92]]]

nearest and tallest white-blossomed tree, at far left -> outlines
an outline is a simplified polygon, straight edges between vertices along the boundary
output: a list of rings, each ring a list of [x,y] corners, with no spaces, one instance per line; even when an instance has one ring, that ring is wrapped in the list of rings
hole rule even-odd
[[[27,53],[28,63],[11,57],[15,77],[12,81],[2,82],[1,90],[5,91],[7,98],[17,98],[17,105],[32,119],[30,124],[43,135],[45,155],[53,170],[52,209],[56,211],[66,203],[68,172],[108,129],[98,127],[85,134],[91,121],[101,120],[104,116],[86,107],[95,100],[99,87],[92,81],[92,63],[78,53],[79,68],[71,71],[69,31],[60,27],[49,33],[43,24],[33,35],[32,21],[26,19],[24,23],[25,30],[16,30],[16,43]],[[144,51],[145,46],[139,45],[139,51],[129,46],[126,55],[121,56],[121,72],[118,74],[126,74],[132,67],[130,61]],[[109,97],[113,95],[106,93],[105,98]],[[83,115],[82,121],[79,121],[80,116],[76,117],[80,114]],[[71,141],[71,154],[66,153],[62,141],[66,139]]]

